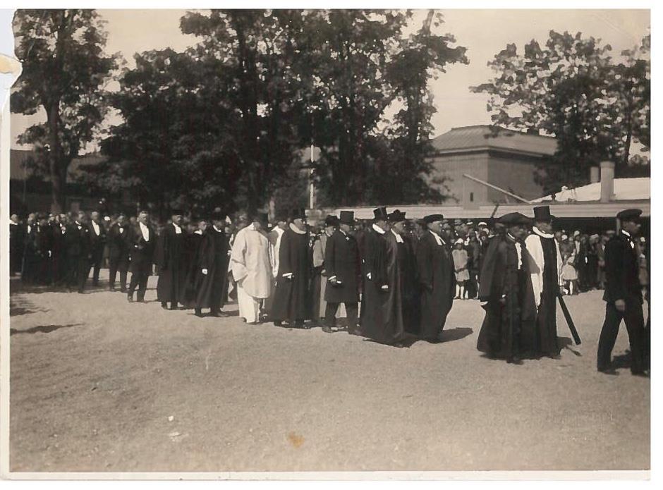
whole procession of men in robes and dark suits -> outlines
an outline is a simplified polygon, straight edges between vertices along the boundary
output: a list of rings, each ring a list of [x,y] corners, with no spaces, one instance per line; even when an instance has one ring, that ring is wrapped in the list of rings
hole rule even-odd
[[[98,212],[89,220],[84,212],[75,218],[31,214],[25,228],[12,216],[11,267],[22,270],[25,283],[85,293],[90,272],[92,287],[99,286],[99,269],[107,259],[108,290],[119,288],[128,302],[145,302],[156,265],[157,301],[166,310],[224,316],[233,290],[247,324],[321,326],[326,333],[347,331],[394,347],[413,340],[444,341],[454,299],[463,299],[458,295],[463,288],[456,287],[462,281],[467,288],[474,284],[485,310],[478,350],[521,364],[544,356],[559,359],[556,307],[566,291],[554,216],[548,206],[533,212],[534,219],[513,212],[491,220],[492,226],[478,223],[480,240],[468,239],[472,264],[465,252],[458,254],[460,261],[452,254],[454,244],[463,248],[463,239],[452,235],[442,214],[413,221],[385,207],[373,210],[365,228],[351,211],[328,215],[317,235],[304,209],[277,214],[271,229],[268,215],[255,213],[234,233],[227,231],[229,218],[218,209],[209,219],[186,222],[183,211],[174,209],[158,231],[147,211],[138,213],[133,224],[120,214],[109,225]],[[621,229],[604,249],[607,306],[598,345],[600,372],[614,372],[611,353],[622,319],[631,343],[631,370],[648,371],[635,238],[640,214],[638,209],[618,214]]]

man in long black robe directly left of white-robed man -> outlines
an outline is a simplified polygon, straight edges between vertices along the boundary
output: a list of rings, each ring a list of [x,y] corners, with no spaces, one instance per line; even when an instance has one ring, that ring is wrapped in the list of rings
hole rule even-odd
[[[200,243],[198,284],[195,314],[202,317],[202,309],[209,308],[210,317],[219,317],[224,305],[224,292],[228,280],[228,236],[225,233],[226,215],[212,213],[212,226],[207,226]]]

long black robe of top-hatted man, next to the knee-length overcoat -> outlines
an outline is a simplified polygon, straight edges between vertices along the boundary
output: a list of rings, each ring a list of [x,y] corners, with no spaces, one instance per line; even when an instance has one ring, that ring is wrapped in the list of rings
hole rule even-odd
[[[373,230],[375,232],[375,230]],[[374,341],[384,344],[398,343],[403,340],[405,324],[403,323],[403,298],[401,294],[401,267],[399,265],[399,247],[396,236],[391,231],[377,238],[382,240],[382,262],[383,264],[371,265],[377,274],[378,281],[368,281],[367,288],[372,289],[372,301],[377,301],[379,314],[377,318],[371,318],[375,307],[369,303],[367,312],[363,319],[362,334]],[[375,242],[377,243],[377,242]],[[367,249],[372,246],[370,238],[365,243]],[[380,253],[380,252],[379,252]],[[380,257],[380,255],[377,255]],[[375,261],[375,259],[374,259]],[[382,269],[382,271],[381,271]],[[380,277],[382,276],[382,277]],[[380,286],[386,284],[387,290]]]

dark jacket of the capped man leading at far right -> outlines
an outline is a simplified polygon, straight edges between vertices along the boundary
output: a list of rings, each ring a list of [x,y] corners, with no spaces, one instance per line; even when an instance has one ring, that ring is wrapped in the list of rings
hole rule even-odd
[[[616,300],[643,302],[640,286],[640,264],[638,247],[624,231],[609,240],[605,247],[605,290],[603,300],[614,303]]]

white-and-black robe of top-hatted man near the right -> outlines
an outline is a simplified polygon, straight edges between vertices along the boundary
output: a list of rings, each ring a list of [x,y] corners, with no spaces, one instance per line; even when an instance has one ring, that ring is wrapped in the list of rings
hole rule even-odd
[[[525,239],[528,269],[537,307],[535,354],[556,356],[557,345],[556,307],[559,294],[562,260],[559,245],[553,235],[547,235],[536,227]]]

